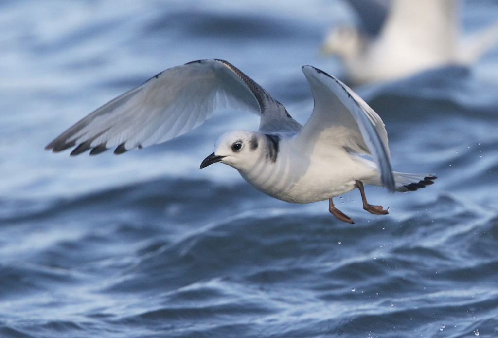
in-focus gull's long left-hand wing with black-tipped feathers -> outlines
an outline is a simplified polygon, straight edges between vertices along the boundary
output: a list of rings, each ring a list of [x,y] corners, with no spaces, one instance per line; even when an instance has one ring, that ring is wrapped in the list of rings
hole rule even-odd
[[[301,125],[257,83],[224,60],[199,60],[166,69],[100,107],[45,149],[90,155],[121,154],[171,140],[209,119],[216,108],[261,116],[263,132],[297,132]]]

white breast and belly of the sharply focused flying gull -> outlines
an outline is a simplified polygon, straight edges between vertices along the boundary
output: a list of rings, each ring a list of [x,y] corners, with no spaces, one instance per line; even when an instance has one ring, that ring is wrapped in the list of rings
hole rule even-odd
[[[368,162],[343,148],[302,150],[292,139],[280,140],[275,163],[260,159],[240,174],[256,189],[292,203],[326,200],[355,188],[355,180],[378,180]]]

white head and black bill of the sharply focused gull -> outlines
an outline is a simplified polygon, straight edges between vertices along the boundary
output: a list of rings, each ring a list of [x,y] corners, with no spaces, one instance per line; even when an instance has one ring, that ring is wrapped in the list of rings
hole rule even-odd
[[[225,133],[216,141],[215,152],[202,161],[200,169],[217,162],[239,170],[249,168],[260,158],[262,138],[263,134],[246,130]]]

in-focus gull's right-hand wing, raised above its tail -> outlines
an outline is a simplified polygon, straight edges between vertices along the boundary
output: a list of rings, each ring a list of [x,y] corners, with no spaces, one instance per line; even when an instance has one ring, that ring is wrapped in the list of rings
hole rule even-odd
[[[370,155],[382,185],[394,191],[387,132],[380,117],[348,86],[312,66],[302,67],[313,92],[313,114],[302,128],[299,142],[343,147]]]

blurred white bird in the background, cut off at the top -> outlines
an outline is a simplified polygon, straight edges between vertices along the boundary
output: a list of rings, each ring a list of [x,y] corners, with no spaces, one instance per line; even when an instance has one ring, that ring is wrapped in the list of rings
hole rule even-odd
[[[354,84],[405,77],[445,65],[470,65],[498,39],[498,21],[462,37],[459,0],[347,0],[360,24],[328,33],[324,55],[338,55]]]

